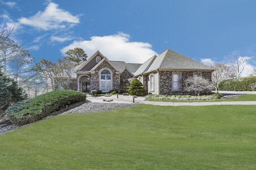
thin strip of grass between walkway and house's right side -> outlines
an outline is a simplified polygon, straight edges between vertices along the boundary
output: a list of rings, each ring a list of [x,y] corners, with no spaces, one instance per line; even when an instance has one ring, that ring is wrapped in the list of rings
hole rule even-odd
[[[150,99],[151,102],[236,102],[236,101],[256,101],[256,94],[242,94],[241,96],[230,99],[216,99],[216,100],[157,100]]]

